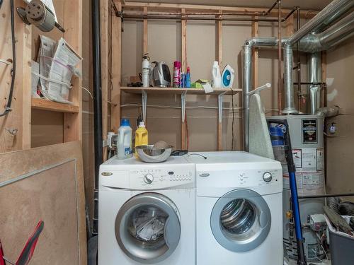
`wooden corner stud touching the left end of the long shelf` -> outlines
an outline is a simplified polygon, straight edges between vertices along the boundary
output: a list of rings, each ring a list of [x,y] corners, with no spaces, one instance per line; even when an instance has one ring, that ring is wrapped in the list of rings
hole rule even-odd
[[[114,0],[118,11],[122,11],[122,3]],[[122,20],[116,16],[112,18],[112,104],[111,104],[111,131],[118,131],[120,126],[120,86],[121,86],[121,54],[122,54]]]

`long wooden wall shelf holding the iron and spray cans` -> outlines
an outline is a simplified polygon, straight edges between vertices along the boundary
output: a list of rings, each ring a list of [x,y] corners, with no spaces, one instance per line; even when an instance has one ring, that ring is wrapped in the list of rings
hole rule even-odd
[[[202,88],[134,88],[134,87],[121,87],[120,88],[125,93],[130,94],[141,94],[142,90],[146,91],[147,94],[177,94],[181,95],[183,92],[187,91],[187,95],[220,95],[226,92],[224,95],[232,95],[242,92],[239,88],[214,88],[212,93],[205,93]]]

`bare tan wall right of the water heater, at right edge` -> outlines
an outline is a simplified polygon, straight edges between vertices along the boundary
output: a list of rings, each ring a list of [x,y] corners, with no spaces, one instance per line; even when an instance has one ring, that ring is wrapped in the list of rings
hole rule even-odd
[[[327,191],[354,191],[354,37],[327,53],[329,106],[338,105],[343,115],[327,119],[338,126],[335,137],[327,139]],[[333,83],[331,84],[331,82]]]

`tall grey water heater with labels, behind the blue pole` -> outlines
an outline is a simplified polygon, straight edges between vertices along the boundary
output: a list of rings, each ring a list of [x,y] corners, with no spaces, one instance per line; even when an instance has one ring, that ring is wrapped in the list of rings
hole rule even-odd
[[[287,119],[292,143],[292,155],[296,166],[297,190],[299,196],[325,193],[324,175],[324,117],[317,115],[288,115],[272,117]],[[275,158],[277,155],[275,153]],[[290,186],[287,164],[283,170],[283,242],[285,255],[297,259],[297,245],[290,211]],[[323,213],[324,199],[299,200],[303,226],[304,249],[308,261],[318,260],[322,254],[316,232],[309,226],[309,216]]]

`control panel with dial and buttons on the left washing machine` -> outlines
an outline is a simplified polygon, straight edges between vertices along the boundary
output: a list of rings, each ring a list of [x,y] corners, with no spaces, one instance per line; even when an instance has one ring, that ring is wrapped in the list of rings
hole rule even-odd
[[[130,186],[150,189],[180,186],[182,184],[194,184],[195,170],[188,168],[150,168],[142,170],[130,170]]]

